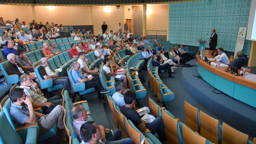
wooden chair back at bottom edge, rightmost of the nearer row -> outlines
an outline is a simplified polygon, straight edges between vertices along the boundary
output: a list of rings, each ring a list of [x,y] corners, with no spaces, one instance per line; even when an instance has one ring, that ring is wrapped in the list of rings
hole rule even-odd
[[[188,129],[186,125],[182,126],[182,136],[184,144],[206,144],[206,139],[203,136],[196,134]]]

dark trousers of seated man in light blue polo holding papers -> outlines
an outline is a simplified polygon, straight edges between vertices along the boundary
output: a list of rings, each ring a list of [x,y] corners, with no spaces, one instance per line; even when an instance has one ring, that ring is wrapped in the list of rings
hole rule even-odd
[[[98,76],[95,76],[92,80],[87,81],[85,83],[85,89],[95,88],[98,93],[98,98],[101,98],[102,95],[100,94],[100,91],[103,90],[103,88],[100,85],[100,80]]]

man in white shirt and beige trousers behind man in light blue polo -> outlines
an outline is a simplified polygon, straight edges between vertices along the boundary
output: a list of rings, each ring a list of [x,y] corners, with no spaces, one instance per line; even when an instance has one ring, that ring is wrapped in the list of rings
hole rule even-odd
[[[89,67],[89,63],[88,63],[88,58],[85,57],[84,52],[79,52],[78,53],[78,60],[77,62],[80,64],[80,69],[79,72],[84,74],[90,74],[92,76],[99,76],[99,70],[98,69],[94,69],[94,70],[90,70]]]

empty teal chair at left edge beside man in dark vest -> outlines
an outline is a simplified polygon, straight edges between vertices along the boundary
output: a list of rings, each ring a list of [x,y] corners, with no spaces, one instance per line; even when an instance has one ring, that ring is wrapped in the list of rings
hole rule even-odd
[[[7,65],[7,63],[7,60],[3,60],[0,62],[0,69],[3,73],[5,81],[7,82],[7,85],[18,83],[20,78],[19,75],[8,75],[8,73],[6,72],[5,66]]]

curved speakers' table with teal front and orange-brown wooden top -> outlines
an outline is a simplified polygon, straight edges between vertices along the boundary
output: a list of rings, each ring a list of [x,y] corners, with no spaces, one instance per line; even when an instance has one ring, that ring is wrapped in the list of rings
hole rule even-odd
[[[212,51],[204,50],[203,55],[214,58]],[[215,67],[201,60],[198,55],[197,72],[211,86],[233,97],[236,100],[256,107],[256,75],[245,72],[243,76],[236,76],[230,72],[225,72],[228,67]],[[241,70],[238,70],[240,73]]]

